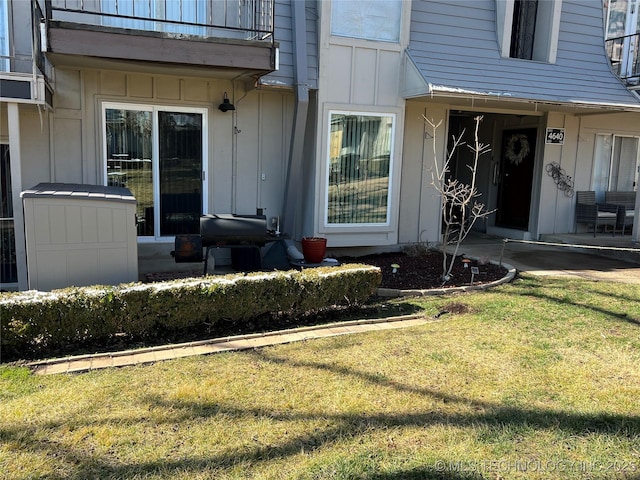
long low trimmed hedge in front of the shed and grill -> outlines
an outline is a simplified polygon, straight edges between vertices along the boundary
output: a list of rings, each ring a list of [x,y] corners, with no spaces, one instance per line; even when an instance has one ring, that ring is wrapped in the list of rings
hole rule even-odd
[[[359,304],[375,294],[380,269],[349,264],[115,287],[0,294],[0,354],[34,358],[115,336],[154,338],[265,314],[300,315]]]

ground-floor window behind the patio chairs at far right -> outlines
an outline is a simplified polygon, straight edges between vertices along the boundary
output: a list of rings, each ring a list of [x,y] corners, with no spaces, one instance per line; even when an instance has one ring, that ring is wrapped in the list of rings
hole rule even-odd
[[[592,189],[604,201],[606,191],[635,191],[640,171],[640,138],[598,135]]]

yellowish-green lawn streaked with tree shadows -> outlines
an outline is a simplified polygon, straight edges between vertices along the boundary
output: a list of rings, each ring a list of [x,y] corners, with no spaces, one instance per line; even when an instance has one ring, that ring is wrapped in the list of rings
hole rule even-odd
[[[637,286],[412,301],[467,313],[75,376],[0,367],[0,478],[640,475]]]

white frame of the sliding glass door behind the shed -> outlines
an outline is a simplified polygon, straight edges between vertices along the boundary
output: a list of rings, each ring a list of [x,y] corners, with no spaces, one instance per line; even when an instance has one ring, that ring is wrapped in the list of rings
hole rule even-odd
[[[160,205],[160,190],[158,185],[160,184],[160,170],[158,168],[159,165],[159,139],[158,139],[158,112],[173,112],[173,113],[199,113],[202,115],[202,212],[208,213],[207,206],[209,205],[209,189],[208,189],[208,180],[209,180],[209,169],[208,169],[208,158],[209,158],[209,110],[204,107],[190,107],[190,106],[180,106],[180,105],[151,105],[151,104],[139,104],[139,103],[126,103],[126,102],[102,102],[101,108],[101,138],[102,138],[102,182],[104,185],[107,185],[107,139],[106,139],[106,118],[107,118],[107,109],[114,110],[134,110],[139,112],[151,112],[152,121],[151,121],[151,141],[152,141],[152,158],[151,162],[153,165],[153,204]],[[154,209],[154,216],[158,217],[160,214],[159,209]],[[160,225],[159,218],[154,218],[154,225],[156,228]],[[167,240],[174,238],[173,235],[158,235],[154,231],[153,236],[138,236],[139,243],[154,243],[154,242],[166,242]]]

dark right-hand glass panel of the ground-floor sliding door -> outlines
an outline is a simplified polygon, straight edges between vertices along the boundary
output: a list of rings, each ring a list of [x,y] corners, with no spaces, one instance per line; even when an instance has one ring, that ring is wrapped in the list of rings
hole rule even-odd
[[[160,235],[198,233],[202,214],[202,114],[158,112]]]

